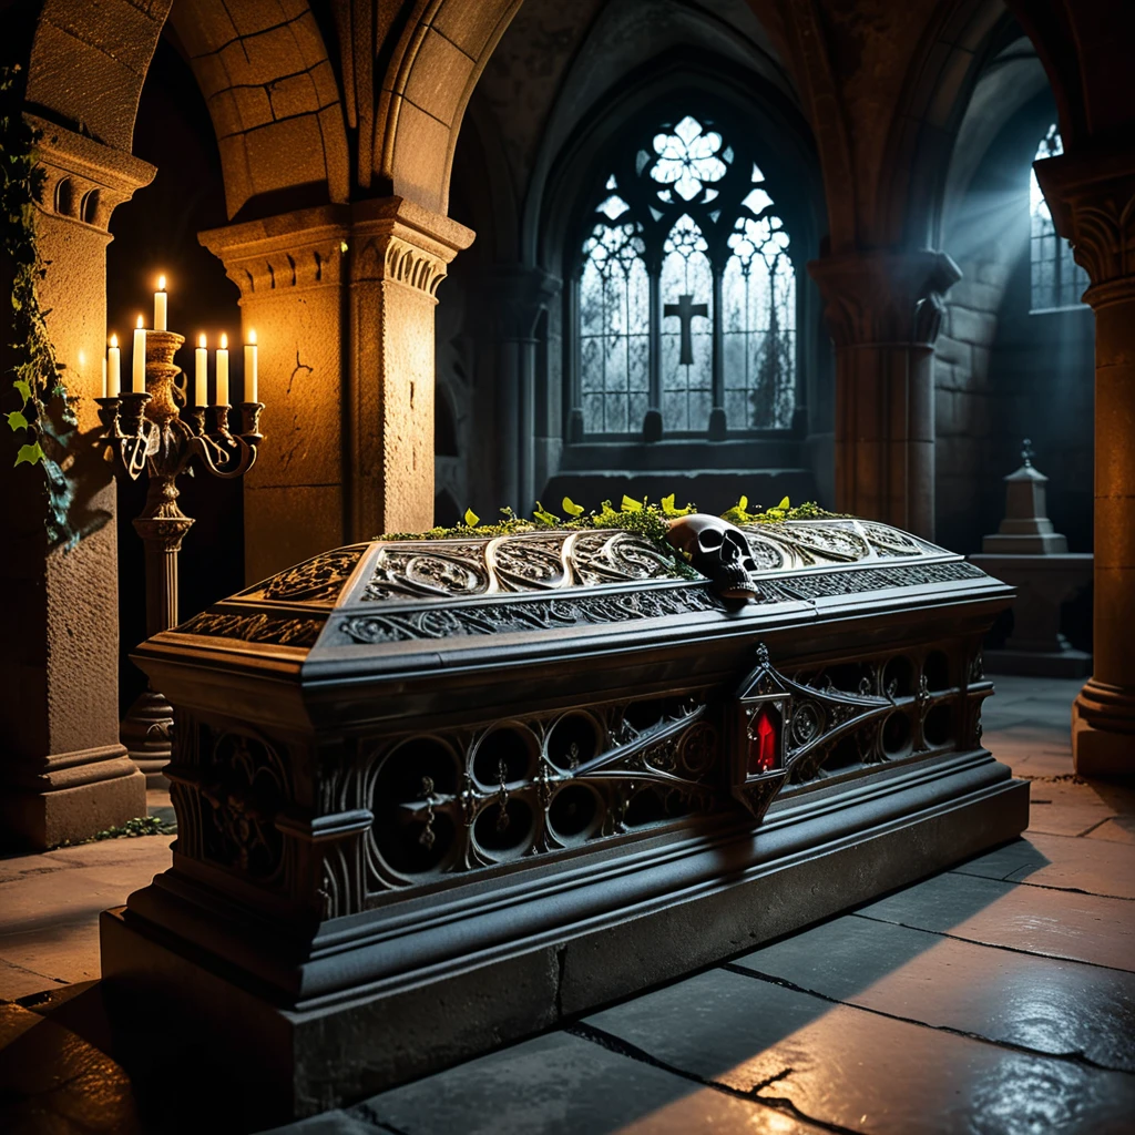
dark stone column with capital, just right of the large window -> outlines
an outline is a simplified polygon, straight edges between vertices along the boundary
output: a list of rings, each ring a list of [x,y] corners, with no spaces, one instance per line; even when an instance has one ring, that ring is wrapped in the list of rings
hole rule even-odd
[[[808,264],[835,343],[835,507],[934,536],[934,340],[961,277],[942,252]]]

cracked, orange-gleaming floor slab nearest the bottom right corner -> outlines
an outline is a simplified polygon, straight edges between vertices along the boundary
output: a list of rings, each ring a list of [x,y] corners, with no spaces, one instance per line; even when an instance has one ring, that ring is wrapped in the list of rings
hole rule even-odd
[[[716,969],[589,1017],[676,1068],[873,1135],[1129,1132],[1135,1077]],[[932,1126],[931,1126],[932,1125]]]

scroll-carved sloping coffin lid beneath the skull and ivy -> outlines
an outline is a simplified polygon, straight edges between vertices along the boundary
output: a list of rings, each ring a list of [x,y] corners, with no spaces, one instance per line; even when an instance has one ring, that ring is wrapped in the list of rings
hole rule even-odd
[[[961,556],[872,521],[783,521],[743,529],[758,598],[738,609],[650,540],[620,529],[496,538],[371,540],[312,556],[162,631],[153,648],[270,655],[304,670],[317,657],[531,647],[598,629],[748,622],[785,608],[861,603],[872,592],[1007,590]],[[620,625],[621,624],[621,625]],[[387,669],[384,666],[384,669]]]

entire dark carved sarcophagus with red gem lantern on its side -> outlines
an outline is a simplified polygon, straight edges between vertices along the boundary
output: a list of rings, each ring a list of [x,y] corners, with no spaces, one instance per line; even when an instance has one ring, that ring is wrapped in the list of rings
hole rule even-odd
[[[376,540],[144,644],[178,836],[109,987],[304,1115],[1019,833],[1011,590],[882,524],[743,535],[745,603],[622,530]]]

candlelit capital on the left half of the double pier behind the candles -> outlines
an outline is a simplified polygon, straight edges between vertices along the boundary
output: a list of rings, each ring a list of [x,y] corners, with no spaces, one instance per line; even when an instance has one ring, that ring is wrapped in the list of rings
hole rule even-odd
[[[225,264],[242,301],[338,286],[350,237],[351,211],[346,205],[301,209],[197,235]]]

